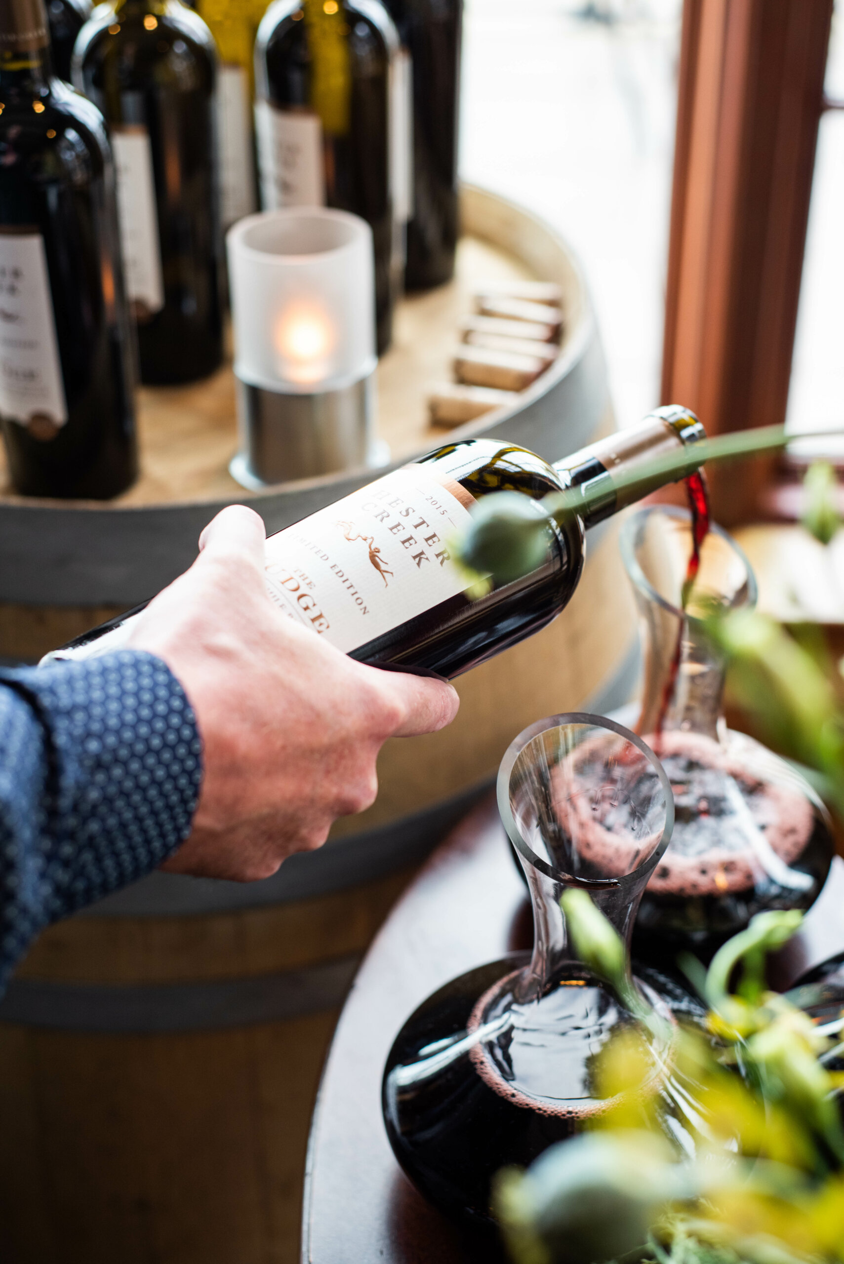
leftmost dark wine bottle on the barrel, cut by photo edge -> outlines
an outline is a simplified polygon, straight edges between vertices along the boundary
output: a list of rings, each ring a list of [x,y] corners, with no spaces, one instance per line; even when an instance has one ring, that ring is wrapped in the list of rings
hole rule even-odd
[[[114,164],[48,46],[43,0],[3,0],[0,423],[24,495],[104,499],[138,471]]]

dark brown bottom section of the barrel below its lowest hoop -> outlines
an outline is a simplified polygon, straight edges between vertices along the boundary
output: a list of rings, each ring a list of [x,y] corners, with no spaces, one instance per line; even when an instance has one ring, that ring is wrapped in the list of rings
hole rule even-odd
[[[293,1264],[337,1015],[95,1042],[4,1033],[3,1258]]]

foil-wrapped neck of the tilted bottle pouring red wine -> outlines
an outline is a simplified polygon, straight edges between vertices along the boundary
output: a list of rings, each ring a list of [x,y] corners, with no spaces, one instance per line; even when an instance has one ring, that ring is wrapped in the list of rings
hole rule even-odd
[[[694,474],[700,466],[700,461],[695,460],[695,444],[705,437],[706,432],[694,412],[670,404],[648,413],[638,426],[600,439],[557,461],[553,468],[566,487],[580,487],[589,495],[590,503],[580,517],[585,527],[594,527],[666,483]],[[656,459],[684,447],[689,449],[689,465],[682,474],[648,471]],[[636,474],[639,466],[641,478],[625,482],[623,488],[617,485],[618,474]]]

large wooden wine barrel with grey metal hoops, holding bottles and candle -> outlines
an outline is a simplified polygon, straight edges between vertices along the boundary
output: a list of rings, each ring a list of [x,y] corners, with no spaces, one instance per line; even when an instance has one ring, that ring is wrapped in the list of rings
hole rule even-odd
[[[558,459],[613,426],[579,267],[547,225],[491,193],[464,188],[462,221],[455,281],[398,312],[379,367],[382,437],[393,465],[467,435]],[[560,356],[513,404],[432,430],[425,389],[446,373],[473,289],[524,278],[562,287]],[[34,661],[152,595],[224,504],[246,501],[275,531],[373,477],[244,493],[227,474],[235,447],[226,368],[143,392],[144,477],[116,502],[24,501],[0,473],[0,657]],[[564,614],[457,681],[451,728],[388,742],[375,804],[322,851],[253,885],[154,873],[42,935],[0,1005],[0,1258],[298,1259],[310,1112],[369,939],[513,734],[552,712],[618,705],[634,665],[610,526],[593,533]]]

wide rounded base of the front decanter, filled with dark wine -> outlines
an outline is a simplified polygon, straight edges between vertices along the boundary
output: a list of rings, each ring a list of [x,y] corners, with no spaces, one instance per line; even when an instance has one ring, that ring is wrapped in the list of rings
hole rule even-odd
[[[533,1057],[522,1067],[546,1091],[528,1097],[518,1081],[497,1072],[495,1055],[507,1054],[508,1042],[515,1043],[519,1034],[488,997],[528,959],[513,954],[491,962],[430,996],[402,1028],[384,1071],[384,1122],[395,1158],[430,1202],[481,1232],[495,1227],[490,1203],[498,1172],[527,1167],[610,1105],[584,1087],[590,1059],[609,1039],[610,1026],[618,1026],[612,1002],[606,1014],[599,1014],[596,997],[590,1001],[589,994],[599,988],[589,980],[572,988],[581,995],[570,1028],[556,1039],[546,1029],[536,1042],[537,1033],[527,1033]],[[509,982],[502,987],[509,990]],[[555,1072],[558,1081],[564,1066],[566,1083],[577,1096],[555,1098],[547,1087]]]

